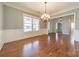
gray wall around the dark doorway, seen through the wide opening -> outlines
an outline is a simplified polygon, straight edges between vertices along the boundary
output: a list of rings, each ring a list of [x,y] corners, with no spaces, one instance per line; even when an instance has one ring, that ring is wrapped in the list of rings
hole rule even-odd
[[[50,21],[50,30],[51,32],[56,32],[56,23],[62,23],[62,32],[63,34],[69,34],[69,18],[62,17],[62,21],[59,21],[60,18],[51,19]]]

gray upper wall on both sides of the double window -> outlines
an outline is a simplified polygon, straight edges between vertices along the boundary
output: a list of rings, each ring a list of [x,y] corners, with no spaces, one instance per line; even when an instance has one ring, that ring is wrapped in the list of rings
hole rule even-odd
[[[22,29],[23,12],[4,5],[4,25],[3,29]],[[40,28],[46,28],[45,22],[40,22]]]

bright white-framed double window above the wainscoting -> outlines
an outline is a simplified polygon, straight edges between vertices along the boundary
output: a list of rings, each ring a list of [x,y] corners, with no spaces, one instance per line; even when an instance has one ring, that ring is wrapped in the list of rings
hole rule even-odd
[[[38,31],[39,30],[39,19],[24,16],[24,32]]]

